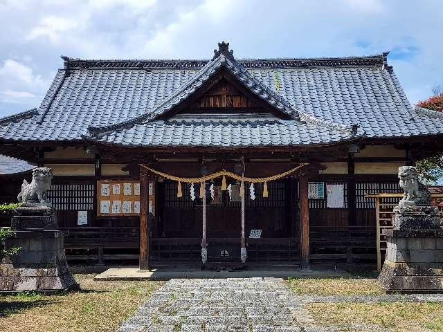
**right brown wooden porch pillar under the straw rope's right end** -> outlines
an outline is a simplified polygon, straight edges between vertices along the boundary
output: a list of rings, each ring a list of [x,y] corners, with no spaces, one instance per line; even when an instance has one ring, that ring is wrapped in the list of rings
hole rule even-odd
[[[309,270],[309,202],[307,176],[299,178],[300,192],[300,270]]]

